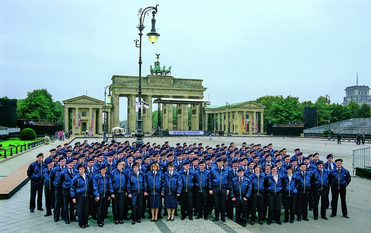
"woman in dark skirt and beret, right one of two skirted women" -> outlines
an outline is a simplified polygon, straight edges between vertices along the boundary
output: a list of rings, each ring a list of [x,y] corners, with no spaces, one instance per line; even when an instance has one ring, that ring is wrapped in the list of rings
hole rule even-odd
[[[182,178],[174,171],[174,163],[167,163],[167,172],[164,173],[162,178],[161,195],[164,198],[164,208],[167,211],[166,221],[174,221],[174,213],[178,208],[178,196],[182,192]]]

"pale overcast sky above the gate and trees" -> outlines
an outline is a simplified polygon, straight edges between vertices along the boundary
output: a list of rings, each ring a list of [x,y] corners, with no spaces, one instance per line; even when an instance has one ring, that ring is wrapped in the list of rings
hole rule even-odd
[[[161,36],[143,39],[142,76],[160,53],[175,78],[203,79],[212,105],[326,94],[342,103],[356,72],[371,86],[370,0],[0,0],[0,97],[46,88],[54,100],[104,100],[113,75],[138,76],[138,10],[156,4]]]

